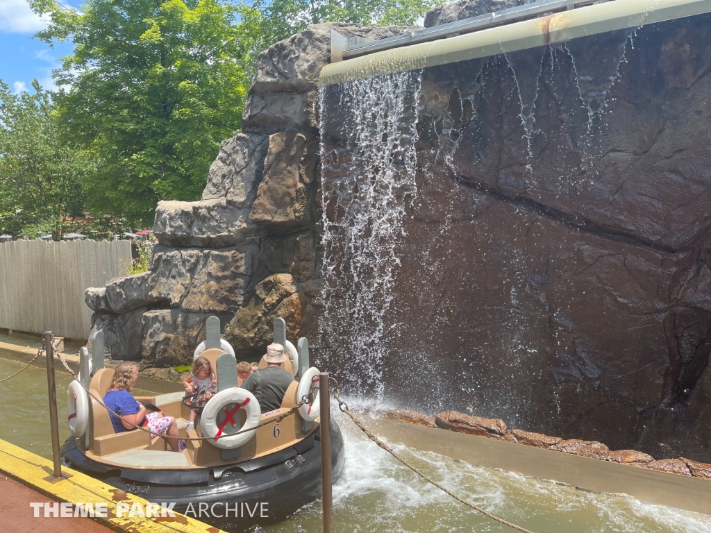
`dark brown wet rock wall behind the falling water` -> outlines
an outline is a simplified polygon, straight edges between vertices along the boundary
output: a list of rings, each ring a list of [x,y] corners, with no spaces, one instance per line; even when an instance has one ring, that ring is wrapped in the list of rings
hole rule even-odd
[[[378,379],[339,353],[358,342],[348,328],[324,339],[328,366],[401,407],[709,462],[709,28],[696,16],[411,77],[395,297],[364,345],[382,355],[357,360]],[[358,87],[329,87],[321,111],[340,294],[360,283],[343,228],[370,209],[343,193],[365,169],[341,124]]]

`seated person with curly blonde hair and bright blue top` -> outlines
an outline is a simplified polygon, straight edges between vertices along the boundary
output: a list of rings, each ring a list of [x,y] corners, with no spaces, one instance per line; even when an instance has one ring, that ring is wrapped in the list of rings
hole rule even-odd
[[[138,379],[138,367],[134,362],[122,362],[114,371],[114,379],[106,394],[104,394],[104,403],[115,413],[122,416],[123,419],[137,426],[148,426],[154,434],[178,436],[178,424],[172,416],[163,416],[155,411],[149,412],[144,405],[139,404],[132,397],[131,389],[133,389]],[[131,431],[135,429],[131,424],[127,424],[118,416],[109,411],[111,424],[114,426],[116,433],[122,431]],[[178,441],[176,438],[164,438],[173,451],[183,451],[186,448],[184,442]]]

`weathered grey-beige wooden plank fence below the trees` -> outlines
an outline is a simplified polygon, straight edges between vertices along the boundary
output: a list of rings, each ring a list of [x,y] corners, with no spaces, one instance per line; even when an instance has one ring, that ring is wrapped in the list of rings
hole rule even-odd
[[[129,241],[4,242],[0,328],[86,339],[92,311],[84,291],[127,275],[130,266]]]

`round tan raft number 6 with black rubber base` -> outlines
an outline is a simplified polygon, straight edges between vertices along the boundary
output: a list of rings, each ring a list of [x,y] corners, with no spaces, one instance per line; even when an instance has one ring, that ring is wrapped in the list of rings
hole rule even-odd
[[[213,318],[208,319],[208,326]],[[318,388],[314,387],[319,370],[308,367],[308,343],[302,338],[296,350],[286,340],[284,326],[281,318],[274,321],[274,342],[287,348],[289,357],[281,366],[295,379],[280,409],[262,414],[254,395],[238,388],[237,361],[234,352],[230,353],[232,347],[219,339],[219,322],[218,336],[212,342],[210,329],[214,336],[215,328],[208,327],[206,344],[220,348],[201,345],[193,357],[206,357],[218,379],[218,392],[198,411],[195,429],[186,430],[191,407],[185,392],[136,397],[139,402],[154,404],[166,416],[174,416],[180,436],[208,437],[186,441],[186,450],[180,453],[169,451],[163,438],[151,438],[138,429],[114,433],[109,412],[95,400],[107,392],[114,370],[97,368],[103,367],[102,355],[95,355],[88,386],[92,397],[77,382],[69,386],[73,436],[62,447],[63,463],[149,502],[174,502],[173,510],[188,516],[199,519],[203,509],[202,519],[223,529],[247,529],[291,515],[321,495],[321,431],[326,429],[321,428]],[[85,349],[82,352],[88,357]],[[259,367],[266,366],[262,357]],[[309,403],[283,416],[304,396],[309,397]],[[266,421],[273,423],[256,427]],[[242,429],[252,430],[214,438]],[[343,439],[333,419],[328,431],[335,482],[343,470]]]

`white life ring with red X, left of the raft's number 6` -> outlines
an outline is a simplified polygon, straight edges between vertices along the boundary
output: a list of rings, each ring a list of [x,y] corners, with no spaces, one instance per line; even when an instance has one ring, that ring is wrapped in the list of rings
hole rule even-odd
[[[234,421],[238,420],[237,411],[242,407],[247,411],[247,420],[245,421],[245,425],[240,429],[235,429],[234,425],[228,424],[227,419],[218,422],[218,414],[224,413],[225,408],[227,408],[229,404],[237,404],[228,409],[230,414],[234,417]],[[237,407],[237,409],[235,409],[235,407]],[[231,450],[232,448],[239,448],[242,444],[247,443],[250,438],[255,436],[257,430],[252,428],[260,424],[261,418],[262,409],[260,409],[260,403],[257,402],[255,395],[247,389],[233,387],[218,392],[208,400],[200,418],[200,429],[203,430],[204,436],[210,437],[208,441],[210,444],[218,448],[223,448],[223,450]],[[245,431],[245,433],[240,433],[239,435],[215,439],[216,436],[221,434],[235,433],[235,431],[242,431],[243,429],[252,429],[252,431]]]

